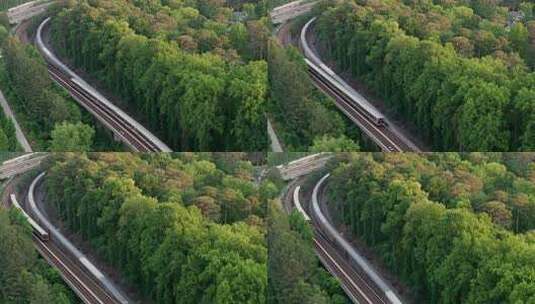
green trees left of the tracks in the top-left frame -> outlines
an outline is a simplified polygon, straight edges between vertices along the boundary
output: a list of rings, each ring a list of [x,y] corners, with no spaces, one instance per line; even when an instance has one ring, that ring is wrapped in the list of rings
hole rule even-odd
[[[35,47],[21,43],[0,26],[0,48],[0,89],[34,150],[121,150],[102,126],[92,127],[95,120],[91,115],[82,113],[68,93],[50,79]],[[12,123],[0,119],[0,124],[7,135],[8,149],[14,151]],[[0,149],[2,142],[0,133]]]

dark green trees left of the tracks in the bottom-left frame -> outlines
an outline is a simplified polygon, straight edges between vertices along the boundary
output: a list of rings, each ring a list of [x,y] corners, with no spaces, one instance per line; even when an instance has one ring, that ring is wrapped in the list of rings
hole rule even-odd
[[[79,303],[59,273],[38,258],[31,229],[18,210],[0,206],[0,303]]]

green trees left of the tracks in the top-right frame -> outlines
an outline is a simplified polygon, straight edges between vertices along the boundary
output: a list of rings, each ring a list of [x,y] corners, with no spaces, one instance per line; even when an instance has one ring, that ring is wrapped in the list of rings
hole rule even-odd
[[[308,78],[303,56],[269,41],[268,112],[286,151],[358,151],[355,126]],[[351,135],[347,135],[351,134]]]

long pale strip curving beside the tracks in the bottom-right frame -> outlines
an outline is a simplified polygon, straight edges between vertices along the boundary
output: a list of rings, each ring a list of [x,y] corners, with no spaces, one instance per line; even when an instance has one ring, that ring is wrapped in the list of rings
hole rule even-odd
[[[312,215],[322,227],[321,234],[333,243],[336,247],[340,248],[344,254],[351,259],[351,262],[354,263],[357,267],[362,269],[364,273],[375,283],[375,285],[384,293],[384,296],[393,304],[402,304],[401,300],[398,298],[396,293],[390,288],[390,286],[375,272],[372,266],[362,257],[349,242],[347,242],[336,229],[331,225],[331,223],[325,218],[318,202],[318,192],[322,187],[323,183],[329,178],[330,173],[324,175],[314,186],[312,192]]]

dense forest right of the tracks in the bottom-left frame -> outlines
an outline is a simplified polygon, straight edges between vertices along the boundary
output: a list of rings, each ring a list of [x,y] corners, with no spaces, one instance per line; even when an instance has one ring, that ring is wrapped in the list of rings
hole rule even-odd
[[[47,201],[156,303],[264,303],[266,204],[244,154],[55,155]]]

